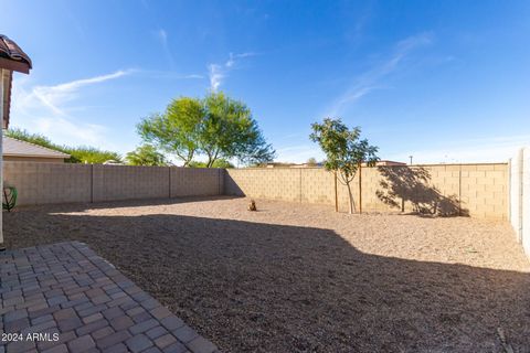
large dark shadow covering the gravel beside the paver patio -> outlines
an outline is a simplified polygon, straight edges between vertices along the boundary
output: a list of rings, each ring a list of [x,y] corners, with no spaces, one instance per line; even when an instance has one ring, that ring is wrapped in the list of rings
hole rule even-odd
[[[81,240],[225,352],[501,352],[530,346],[526,272],[367,254],[330,229],[18,212],[8,247]]]

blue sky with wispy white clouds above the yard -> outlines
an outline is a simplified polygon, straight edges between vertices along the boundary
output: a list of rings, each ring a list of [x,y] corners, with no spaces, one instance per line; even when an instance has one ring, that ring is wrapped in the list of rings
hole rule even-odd
[[[121,153],[173,97],[223,90],[278,160],[310,124],[360,126],[382,159],[502,161],[530,141],[529,1],[3,1],[32,57],[12,126]]]

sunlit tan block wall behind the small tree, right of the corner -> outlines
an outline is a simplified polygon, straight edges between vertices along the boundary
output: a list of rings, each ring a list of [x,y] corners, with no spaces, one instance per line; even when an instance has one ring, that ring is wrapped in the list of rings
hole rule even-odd
[[[506,163],[362,168],[361,173],[363,211],[411,212],[420,203],[462,215],[508,218]],[[229,195],[335,205],[335,176],[320,168],[229,169],[225,175]],[[340,180],[337,185],[339,211],[347,211],[348,190]],[[351,189],[358,208],[359,175]]]

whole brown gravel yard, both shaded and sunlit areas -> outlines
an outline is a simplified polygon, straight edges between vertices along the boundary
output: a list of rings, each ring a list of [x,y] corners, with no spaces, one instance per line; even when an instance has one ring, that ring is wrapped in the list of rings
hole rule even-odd
[[[530,266],[507,223],[221,197],[18,208],[8,247],[77,239],[224,352],[516,352]]]

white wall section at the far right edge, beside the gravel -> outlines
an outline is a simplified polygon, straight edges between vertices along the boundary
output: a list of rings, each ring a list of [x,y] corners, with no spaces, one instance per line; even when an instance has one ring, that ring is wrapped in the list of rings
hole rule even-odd
[[[522,148],[509,161],[510,223],[517,240],[530,257],[530,148]]]

